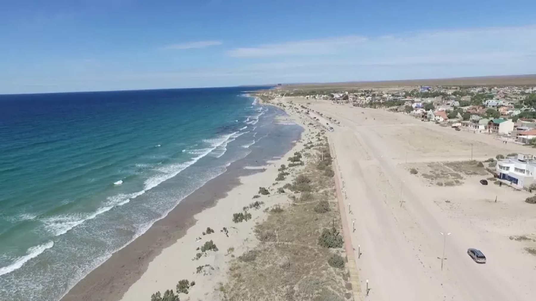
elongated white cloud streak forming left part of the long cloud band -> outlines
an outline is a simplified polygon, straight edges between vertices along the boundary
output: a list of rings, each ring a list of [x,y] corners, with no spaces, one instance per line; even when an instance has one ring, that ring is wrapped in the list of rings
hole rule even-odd
[[[343,36],[329,39],[265,44],[250,48],[235,48],[229,50],[227,54],[232,57],[326,55],[337,52],[338,48],[354,48],[365,42],[367,42],[367,39],[362,36]]]

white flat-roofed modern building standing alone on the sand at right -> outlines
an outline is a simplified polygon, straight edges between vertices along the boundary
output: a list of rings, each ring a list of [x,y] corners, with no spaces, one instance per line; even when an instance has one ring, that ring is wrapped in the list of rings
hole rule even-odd
[[[519,189],[528,188],[536,183],[536,161],[533,155],[518,154],[515,158],[500,160],[495,171],[502,180],[507,180]]]

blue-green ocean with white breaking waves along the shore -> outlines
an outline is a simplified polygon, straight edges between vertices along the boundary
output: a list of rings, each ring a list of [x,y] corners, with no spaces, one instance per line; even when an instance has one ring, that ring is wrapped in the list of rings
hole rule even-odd
[[[281,114],[254,89],[0,95],[0,300],[59,299],[248,155]]]

